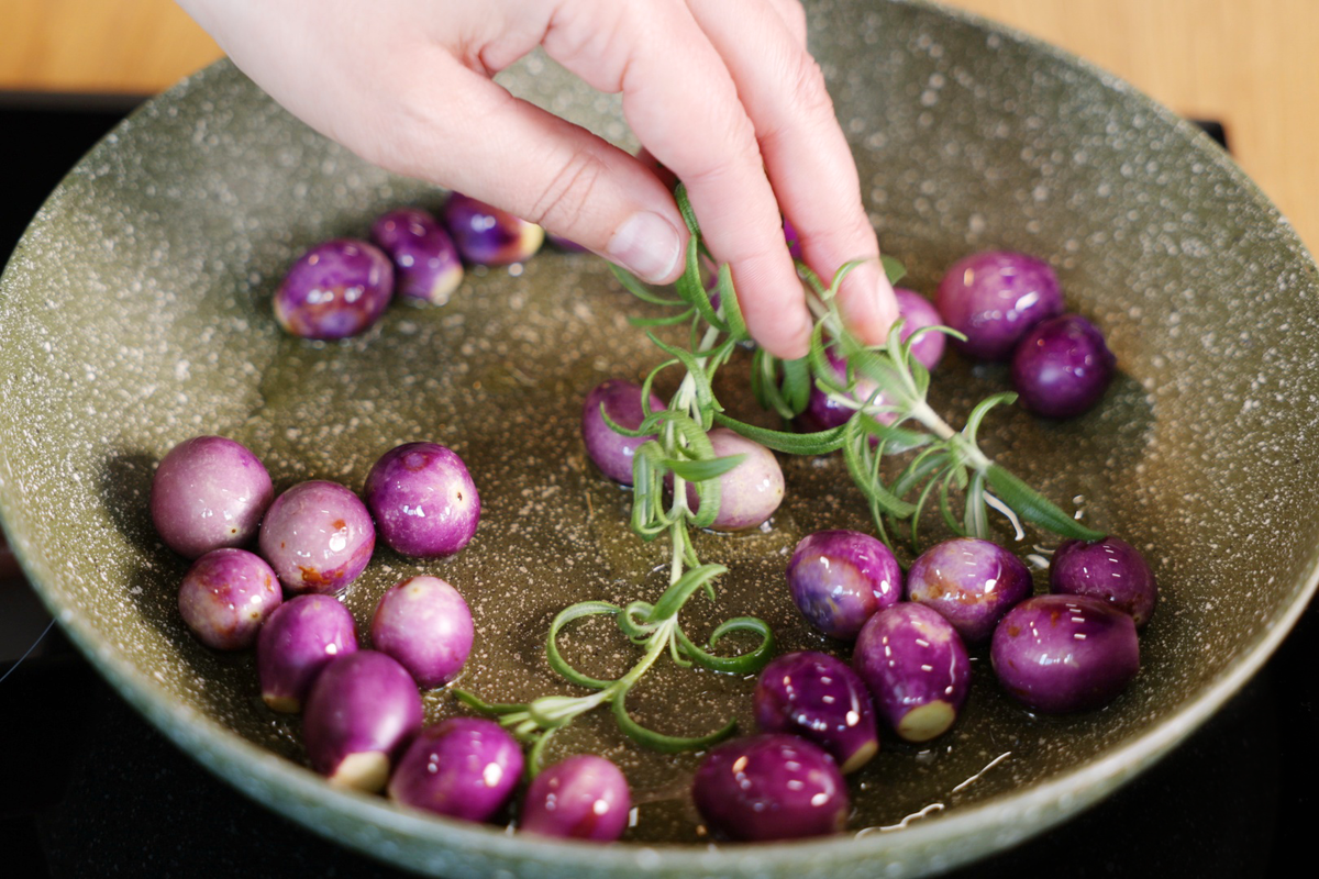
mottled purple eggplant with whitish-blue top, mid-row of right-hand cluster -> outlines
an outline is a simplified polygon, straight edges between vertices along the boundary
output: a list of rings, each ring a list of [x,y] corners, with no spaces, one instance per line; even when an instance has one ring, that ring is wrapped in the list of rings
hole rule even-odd
[[[926,550],[907,569],[907,598],[938,610],[968,644],[989,640],[1002,615],[1034,585],[1021,559],[989,540],[955,538]]]

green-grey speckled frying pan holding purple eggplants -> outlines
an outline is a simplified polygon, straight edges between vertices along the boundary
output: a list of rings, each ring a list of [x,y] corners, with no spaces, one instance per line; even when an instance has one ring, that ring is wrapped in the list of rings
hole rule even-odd
[[[686,797],[694,758],[642,752],[607,717],[555,747],[623,764],[640,809],[621,845],[529,839],[327,787],[302,764],[297,721],[260,704],[252,658],[216,656],[183,630],[185,563],[146,514],[154,463],[216,432],[256,451],[277,488],[334,478],[360,490],[397,443],[452,447],[481,490],[476,539],[441,563],[380,551],[346,601],[364,625],[397,580],[443,576],[477,626],[466,687],[492,700],[563,692],[541,655],[553,613],[661,586],[649,572],[663,547],[627,532],[627,496],[603,484],[576,432],[592,383],[636,378],[657,354],[627,326],[634,306],[605,266],[559,253],[472,271],[443,307],[396,304],[367,339],[284,336],[270,295],[302,248],[365,235],[377,212],[442,194],[367,167],[224,63],[92,150],[0,290],[4,525],[61,625],[124,696],[232,784],[346,845],[448,876],[574,879],[944,870],[1093,803],[1220,706],[1319,576],[1315,266],[1206,137],[1072,58],[922,4],[840,0],[811,4],[810,17],[882,244],[911,286],[933,293],[973,249],[1029,250],[1108,333],[1121,376],[1099,410],[1059,424],[1014,410],[984,432],[1004,463],[1145,550],[1157,571],[1142,671],[1116,704],[1028,717],[981,656],[948,737],[925,750],[886,741],[855,778],[857,838],[711,847]],[[505,82],[627,141],[616,100],[542,59]],[[1006,383],[1006,370],[956,357],[940,372],[948,412]],[[823,644],[787,598],[786,553],[809,531],[865,527],[864,511],[840,461],[786,472],[770,532],[702,536],[702,557],[735,573],[718,605],[692,600],[694,630],[753,613],[785,648]],[[580,659],[588,671],[620,668],[630,648],[616,642],[603,625],[566,639],[570,655],[594,651]],[[749,725],[749,692],[747,680],[669,669],[630,708],[695,734],[729,714]],[[452,710],[429,697],[433,717]],[[922,809],[901,830],[874,829]]]

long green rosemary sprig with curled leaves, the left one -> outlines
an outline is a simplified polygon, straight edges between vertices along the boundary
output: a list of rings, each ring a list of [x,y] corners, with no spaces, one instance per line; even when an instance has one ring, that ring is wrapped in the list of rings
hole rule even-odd
[[[770,627],[754,617],[728,619],[711,633],[703,646],[698,646],[682,629],[679,611],[696,593],[704,592],[715,600],[714,581],[727,572],[718,564],[702,564],[691,540],[692,528],[706,528],[719,513],[719,476],[737,467],[743,455],[716,457],[707,431],[723,412],[715,398],[712,380],[737,348],[749,340],[747,324],[737,306],[728,268],[716,275],[718,304],[706,291],[700,271],[700,229],[695,213],[679,187],[678,203],[691,231],[687,248],[687,270],[677,283],[678,298],[652,293],[632,275],[615,270],[619,281],[638,299],[666,306],[675,314],[665,318],[633,319],[640,327],[691,324],[690,349],[669,344],[648,331],[650,341],[667,360],[656,366],[641,389],[641,399],[650,399],[656,378],[674,366],[683,369],[683,377],[666,409],[648,411],[641,424],[629,430],[608,416],[605,423],[628,436],[654,436],[637,447],[632,465],[632,530],[644,540],[667,536],[673,548],[669,565],[669,588],[656,601],[633,601],[625,608],[604,602],[586,601],[562,610],[551,622],[545,644],[550,668],[571,684],[594,691],[584,696],[545,696],[525,704],[489,704],[472,693],[455,691],[467,706],[489,714],[516,737],[532,745],[528,771],[536,774],[543,760],[546,743],[558,730],[575,718],[601,705],[609,705],[619,729],[641,745],[657,751],[674,752],[706,749],[727,738],[735,722],[696,737],[677,737],[658,733],[638,723],[628,714],[629,691],[663,655],[669,654],[681,667],[699,666],[708,671],[732,675],[753,675],[774,655],[774,635]],[[687,484],[696,493],[695,509],[687,499]],[[592,615],[612,617],[624,637],[642,648],[641,658],[621,677],[601,680],[574,668],[558,646],[559,633],[575,619]],[[758,637],[754,648],[724,656],[715,654],[719,643],[733,633]]]

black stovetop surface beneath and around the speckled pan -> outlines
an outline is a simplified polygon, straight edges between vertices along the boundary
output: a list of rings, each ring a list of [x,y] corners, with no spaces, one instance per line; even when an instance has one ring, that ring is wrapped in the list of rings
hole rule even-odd
[[[0,264],[50,188],[133,103],[0,96]],[[0,675],[46,623],[26,589],[0,581]],[[1319,817],[1316,652],[1311,608],[1264,672],[1173,755],[1078,818],[954,875],[1293,875]],[[210,775],[58,630],[0,681],[0,865],[34,878],[404,875]]]

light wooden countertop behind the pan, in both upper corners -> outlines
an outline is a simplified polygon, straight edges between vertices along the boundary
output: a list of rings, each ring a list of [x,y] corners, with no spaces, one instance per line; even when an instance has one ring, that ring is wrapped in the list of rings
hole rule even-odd
[[[1220,120],[1319,252],[1319,0],[951,0]],[[173,0],[7,0],[0,91],[152,94],[220,55]]]

